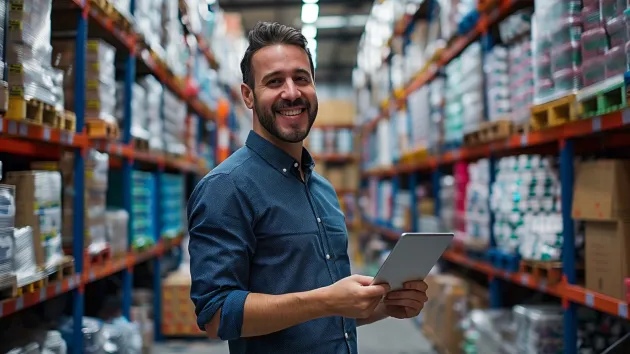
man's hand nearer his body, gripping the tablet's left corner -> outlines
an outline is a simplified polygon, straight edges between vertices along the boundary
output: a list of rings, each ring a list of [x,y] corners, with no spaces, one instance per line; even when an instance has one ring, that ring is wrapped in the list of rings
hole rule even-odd
[[[333,316],[367,318],[389,291],[388,285],[371,285],[372,277],[351,275],[323,288],[324,301]]]

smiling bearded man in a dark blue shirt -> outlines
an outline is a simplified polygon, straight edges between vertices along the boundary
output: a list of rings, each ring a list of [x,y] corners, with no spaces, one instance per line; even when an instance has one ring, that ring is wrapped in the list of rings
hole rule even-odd
[[[355,354],[357,325],[418,315],[426,284],[350,275],[337,195],[302,146],[317,115],[304,36],[257,24],[241,71],[253,131],[188,204],[198,325],[232,354]]]

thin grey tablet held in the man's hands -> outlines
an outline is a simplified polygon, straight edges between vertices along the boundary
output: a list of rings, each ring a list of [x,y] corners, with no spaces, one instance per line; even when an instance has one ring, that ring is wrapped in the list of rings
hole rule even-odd
[[[453,240],[452,233],[404,233],[374,277],[373,284],[402,289],[411,280],[424,280]]]

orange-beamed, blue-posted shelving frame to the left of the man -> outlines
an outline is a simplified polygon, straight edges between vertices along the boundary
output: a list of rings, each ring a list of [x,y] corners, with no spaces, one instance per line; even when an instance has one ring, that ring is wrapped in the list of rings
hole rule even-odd
[[[8,1],[7,1],[8,3]],[[181,230],[178,235],[166,237],[160,232],[160,203],[151,208],[150,213],[156,227],[153,229],[152,235],[156,244],[142,251],[135,251],[131,248],[132,228],[132,171],[141,166],[143,170],[149,170],[155,173],[156,183],[160,185],[160,181],[164,178],[164,174],[169,173],[183,174],[185,179],[192,177],[194,181],[209,172],[212,166],[207,166],[206,161],[201,159],[197,150],[198,144],[201,142],[202,134],[199,131],[207,131],[205,123],[212,122],[216,130],[211,134],[214,139],[210,142],[215,150],[215,163],[225,159],[229,152],[230,145],[234,143],[235,135],[231,134],[227,139],[216,139],[216,135],[225,134],[232,126],[230,123],[230,115],[233,115],[230,108],[229,98],[220,98],[215,107],[209,107],[202,102],[196,95],[191,94],[188,88],[192,78],[177,77],[167,69],[165,64],[161,64],[155,60],[155,53],[144,43],[141,36],[134,32],[132,27],[121,27],[117,19],[107,15],[108,11],[100,8],[98,4],[107,4],[108,1],[90,1],[90,0],[54,0],[53,1],[53,22],[54,16],[63,13],[64,18],[73,18],[73,23],[68,25],[64,23],[62,27],[71,28],[76,33],[75,46],[83,48],[76,52],[76,61],[74,63],[75,75],[75,107],[76,113],[76,129],[74,131],[64,131],[61,129],[51,128],[42,125],[27,123],[25,121],[10,120],[0,117],[0,152],[10,154],[11,156],[26,156],[43,160],[58,160],[62,150],[72,150],[74,152],[74,188],[77,191],[74,196],[74,209],[83,210],[85,202],[85,162],[88,149],[96,149],[99,152],[108,153],[110,155],[110,169],[119,169],[122,171],[122,199],[124,209],[129,213],[129,240],[128,252],[121,258],[108,258],[104,263],[93,263],[88,259],[85,250],[84,238],[84,217],[82,213],[75,213],[73,218],[73,237],[72,255],[74,256],[75,273],[66,277],[62,281],[51,281],[41,290],[33,293],[27,293],[17,298],[9,298],[0,302],[0,319],[26,308],[43,303],[61,294],[71,293],[72,296],[72,316],[73,316],[73,333],[72,348],[79,353],[83,348],[83,332],[82,319],[84,316],[85,304],[85,288],[88,284],[99,279],[109,277],[116,273],[122,273],[122,312],[127,319],[131,319],[132,305],[132,286],[134,266],[146,262],[153,261],[154,278],[154,334],[156,340],[162,339],[159,309],[161,308],[161,265],[160,260],[165,252],[172,248],[179,247],[182,241],[183,233]],[[9,6],[9,5],[7,5]],[[111,6],[108,5],[108,6]],[[134,1],[131,1],[130,14],[134,13]],[[185,8],[180,4],[180,11]],[[76,14],[76,17],[75,15]],[[8,20],[7,20],[8,21]],[[65,28],[64,28],[65,29]],[[54,30],[54,29],[53,29]],[[218,68],[219,63],[212,53],[207,40],[201,34],[192,33],[198,42],[198,50],[203,53],[203,57],[207,60],[212,68]],[[88,33],[89,32],[89,33]],[[85,111],[85,95],[86,91],[86,43],[90,38],[104,38],[117,47],[118,52],[124,58],[124,119],[123,129],[120,141],[108,141],[103,139],[90,139],[86,130]],[[6,58],[5,58],[6,61]],[[118,68],[120,70],[120,68]],[[188,115],[186,118],[186,126],[190,127],[193,122],[199,122],[199,131],[197,131],[194,140],[197,143],[193,149],[188,148],[185,156],[174,157],[171,155],[148,152],[138,150],[134,147],[131,136],[131,95],[132,85],[136,80],[136,74],[140,71],[152,74],[164,87],[170,90],[177,97],[184,100],[188,107]],[[234,118],[232,117],[232,120]],[[191,133],[188,128],[188,134]],[[206,139],[209,133],[206,132]],[[160,201],[160,188],[155,188],[155,200]],[[185,206],[181,206],[184,208]],[[92,265],[91,265],[92,264]]]

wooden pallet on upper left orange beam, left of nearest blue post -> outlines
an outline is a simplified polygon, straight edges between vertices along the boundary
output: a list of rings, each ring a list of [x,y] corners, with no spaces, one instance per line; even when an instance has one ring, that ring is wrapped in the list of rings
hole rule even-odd
[[[22,97],[9,97],[9,110],[5,118],[16,121],[25,121],[35,125],[47,125],[52,128],[59,127],[59,115],[54,106],[36,100],[26,100]]]

